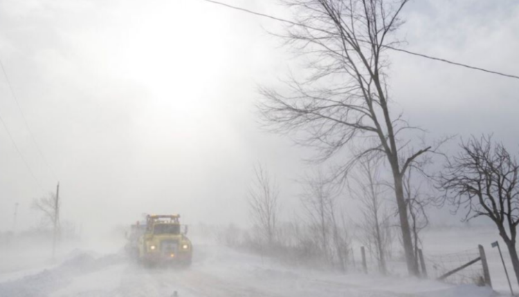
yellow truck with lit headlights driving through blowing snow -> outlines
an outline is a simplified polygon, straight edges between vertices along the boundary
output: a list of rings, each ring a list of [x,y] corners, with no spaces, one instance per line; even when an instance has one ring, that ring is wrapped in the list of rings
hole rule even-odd
[[[140,262],[145,265],[189,266],[193,256],[188,227],[181,231],[180,215],[147,215],[145,232],[138,241]]]

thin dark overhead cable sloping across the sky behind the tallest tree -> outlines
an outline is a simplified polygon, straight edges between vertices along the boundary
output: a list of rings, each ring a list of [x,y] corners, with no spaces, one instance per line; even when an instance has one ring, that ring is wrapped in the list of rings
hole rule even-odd
[[[259,17],[266,17],[268,19],[273,19],[275,21],[281,21],[283,23],[289,23],[289,24],[291,24],[293,26],[300,26],[300,27],[309,28],[309,29],[312,29],[312,30],[322,31],[319,28],[313,28],[311,26],[306,26],[306,25],[303,25],[301,23],[295,23],[295,22],[289,21],[287,19],[280,19],[278,17],[273,17],[271,15],[265,15],[265,14],[260,13],[260,12],[255,12],[253,10],[248,10],[246,8],[241,8],[241,7],[238,7],[238,6],[232,6],[230,4],[222,3],[222,2],[219,2],[219,1],[215,1],[215,0],[201,0],[201,1],[206,1],[206,2],[210,2],[210,3],[213,3],[213,4],[220,5],[220,6],[225,6],[226,8],[231,8],[231,9],[234,9],[234,10],[239,10],[239,11],[242,11],[242,12],[249,13],[251,15],[257,15]],[[451,65],[455,65],[455,66],[462,66],[462,67],[469,68],[469,69],[472,69],[472,70],[479,70],[479,71],[483,71],[485,73],[491,73],[491,74],[495,74],[495,75],[501,75],[501,76],[504,76],[504,77],[519,79],[519,76],[517,76],[517,75],[509,75],[509,74],[506,74],[506,73],[500,73],[498,71],[487,70],[487,69],[484,69],[484,68],[470,66],[470,65],[458,63],[458,62],[455,62],[455,61],[449,61],[447,59],[441,59],[441,58],[432,57],[432,56],[429,56],[429,55],[424,55],[424,54],[421,54],[419,52],[412,52],[410,50],[403,50],[401,48],[394,48],[392,46],[384,46],[384,47],[388,48],[390,50],[395,50],[395,51],[398,51],[398,52],[404,52],[406,54],[415,55],[417,57],[422,57],[422,58],[425,58],[425,59],[431,59],[431,60],[434,60],[434,61],[441,61],[441,62],[444,62],[444,63],[447,63],[447,64],[451,64]]]

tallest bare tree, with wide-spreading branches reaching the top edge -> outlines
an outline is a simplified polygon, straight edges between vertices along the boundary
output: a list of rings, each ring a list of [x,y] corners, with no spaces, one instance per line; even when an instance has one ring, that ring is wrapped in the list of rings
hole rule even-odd
[[[385,156],[408,271],[417,275],[402,180],[410,162],[430,147],[399,154],[409,144],[403,132],[413,127],[391,112],[385,56],[387,48],[398,44],[392,33],[401,26],[399,15],[408,0],[283,2],[296,14],[293,26],[280,36],[309,58],[309,77],[292,77],[286,92],[262,88],[262,118],[272,131],[293,132],[298,144],[317,148],[315,160],[320,162],[342,152],[352,140],[374,144],[339,164],[335,177],[346,178],[363,155]]]

